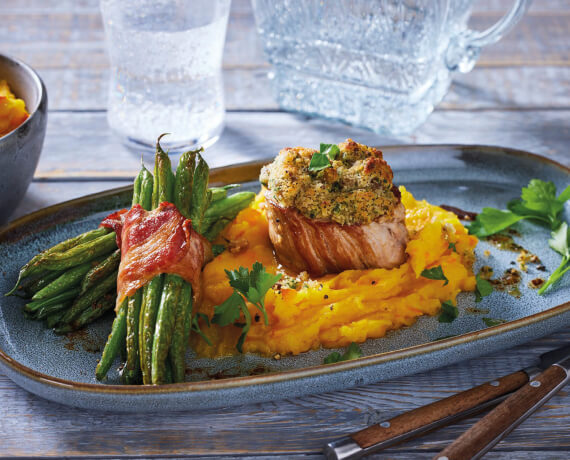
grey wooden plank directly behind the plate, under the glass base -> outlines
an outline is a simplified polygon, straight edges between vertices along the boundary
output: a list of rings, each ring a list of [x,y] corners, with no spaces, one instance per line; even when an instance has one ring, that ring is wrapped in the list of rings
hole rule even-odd
[[[436,111],[411,136],[381,136],[317,118],[281,112],[230,112],[221,139],[206,152],[212,167],[271,157],[286,146],[318,145],[352,137],[372,145],[401,143],[488,144],[546,155],[566,165],[570,110]],[[123,147],[107,127],[104,112],[50,113],[36,178],[129,179],[140,153]],[[152,162],[152,156],[148,157]]]

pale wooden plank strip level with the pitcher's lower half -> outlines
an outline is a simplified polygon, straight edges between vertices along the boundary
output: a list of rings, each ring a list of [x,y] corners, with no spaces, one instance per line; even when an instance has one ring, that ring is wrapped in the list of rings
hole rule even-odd
[[[224,70],[228,110],[278,110],[266,67]],[[50,110],[104,110],[108,69],[57,68],[39,71]],[[440,109],[537,109],[570,107],[566,67],[475,67],[455,74]]]

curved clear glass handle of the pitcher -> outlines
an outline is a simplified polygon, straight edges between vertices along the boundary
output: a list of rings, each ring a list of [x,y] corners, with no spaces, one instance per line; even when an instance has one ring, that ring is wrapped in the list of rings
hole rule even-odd
[[[453,37],[447,48],[445,63],[449,70],[470,72],[475,66],[481,48],[498,42],[525,14],[532,0],[516,0],[511,10],[487,30],[466,30]]]

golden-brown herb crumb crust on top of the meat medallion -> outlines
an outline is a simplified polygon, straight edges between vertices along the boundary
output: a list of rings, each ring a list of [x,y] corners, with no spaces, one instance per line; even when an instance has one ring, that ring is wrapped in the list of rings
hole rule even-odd
[[[393,216],[400,197],[382,152],[352,139],[338,148],[331,167],[320,171],[309,169],[316,150],[281,150],[261,171],[268,198],[284,208],[296,208],[309,219],[341,225],[369,224]]]

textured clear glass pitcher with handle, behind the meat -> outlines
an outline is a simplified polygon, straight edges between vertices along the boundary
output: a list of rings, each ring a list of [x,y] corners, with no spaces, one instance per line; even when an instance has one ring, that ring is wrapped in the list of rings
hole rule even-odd
[[[376,132],[407,134],[523,16],[467,28],[472,0],[253,0],[277,101]]]

